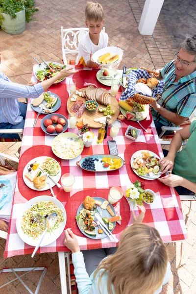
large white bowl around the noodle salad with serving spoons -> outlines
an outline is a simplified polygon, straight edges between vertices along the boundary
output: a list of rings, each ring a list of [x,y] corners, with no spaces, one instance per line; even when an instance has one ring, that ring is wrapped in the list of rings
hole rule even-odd
[[[63,214],[63,218],[64,218],[64,221],[61,222],[60,226],[55,229],[53,232],[50,232],[50,233],[46,233],[42,243],[41,243],[41,246],[46,246],[46,245],[49,245],[51,244],[52,242],[56,241],[56,239],[62,234],[64,228],[65,228],[65,224],[66,224],[66,220],[67,220],[67,215],[66,215],[66,211],[65,211],[65,208],[63,206],[63,204],[57,200],[56,198],[54,197],[51,197],[51,196],[37,196],[37,197],[34,197],[32,199],[30,199],[29,201],[27,201],[24,205],[23,205],[23,209],[22,211],[20,211],[20,214],[16,220],[16,229],[17,229],[17,232],[20,236],[20,238],[28,245],[31,245],[31,246],[36,246],[39,242],[39,238],[37,240],[33,240],[32,237],[26,235],[24,233],[24,231],[22,230],[22,227],[21,227],[21,223],[22,223],[22,218],[23,218],[23,214],[24,212],[31,208],[31,206],[33,204],[35,204],[36,202],[40,202],[40,201],[51,201],[53,202],[54,204],[56,204],[56,206],[58,208],[60,208],[62,210],[62,214]],[[41,235],[40,235],[41,236]]]

